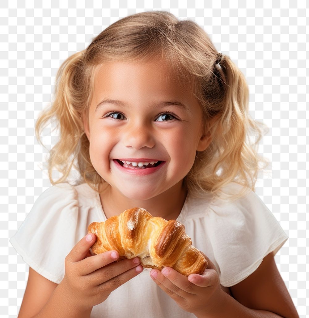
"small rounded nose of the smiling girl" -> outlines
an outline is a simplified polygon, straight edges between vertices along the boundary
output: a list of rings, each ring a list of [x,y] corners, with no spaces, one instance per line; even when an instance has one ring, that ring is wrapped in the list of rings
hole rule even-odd
[[[139,122],[126,127],[123,132],[123,142],[126,147],[134,149],[152,148],[155,145],[155,138],[151,127]]]

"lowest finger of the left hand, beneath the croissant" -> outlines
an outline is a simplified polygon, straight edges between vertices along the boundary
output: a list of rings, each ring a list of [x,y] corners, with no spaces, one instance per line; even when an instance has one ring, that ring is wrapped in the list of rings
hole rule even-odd
[[[125,260],[115,263],[115,265],[125,262]],[[110,280],[98,285],[98,292],[99,293],[111,293],[113,290],[118,288],[119,286],[123,285],[133,277],[137,276],[138,274],[142,273],[144,270],[142,265],[138,265],[134,268],[129,269],[128,271],[121,273]]]

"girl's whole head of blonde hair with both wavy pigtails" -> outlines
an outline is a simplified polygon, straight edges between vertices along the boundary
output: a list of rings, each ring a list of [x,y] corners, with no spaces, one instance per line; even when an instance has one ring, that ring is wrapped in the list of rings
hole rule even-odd
[[[230,182],[242,186],[236,197],[248,188],[254,191],[259,169],[265,168],[267,161],[257,153],[263,124],[250,118],[245,77],[228,56],[218,55],[198,24],[178,20],[167,11],[137,13],[118,20],[60,66],[55,99],[40,114],[35,128],[41,142],[40,133],[47,123],[52,118],[58,123],[60,139],[48,158],[50,182],[67,181],[75,167],[82,178],[77,183],[86,182],[98,191],[102,179],[91,164],[82,120],[91,103],[96,66],[103,61],[146,62],[155,57],[165,59],[173,75],[190,83],[202,107],[205,128],[212,135],[208,148],[197,151],[185,177],[190,193],[219,195]],[[256,140],[251,142],[250,136]],[[260,162],[264,167],[259,167]],[[52,179],[53,168],[62,173],[57,181]]]

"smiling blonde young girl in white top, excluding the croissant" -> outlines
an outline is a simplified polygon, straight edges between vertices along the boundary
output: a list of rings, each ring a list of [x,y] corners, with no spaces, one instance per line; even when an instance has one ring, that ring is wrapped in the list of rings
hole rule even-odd
[[[298,317],[274,261],[288,237],[254,193],[248,96],[203,29],[165,11],[125,17],[69,57],[36,127],[39,139],[59,123],[53,186],[10,239],[30,266],[19,317]],[[87,226],[132,207],[183,223],[205,272],[92,255]]]

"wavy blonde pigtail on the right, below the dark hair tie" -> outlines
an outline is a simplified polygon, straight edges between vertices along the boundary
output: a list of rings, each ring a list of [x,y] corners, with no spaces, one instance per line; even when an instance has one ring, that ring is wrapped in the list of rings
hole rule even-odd
[[[233,199],[237,199],[248,188],[255,190],[259,169],[268,164],[258,154],[265,125],[250,117],[245,76],[228,56],[219,56],[219,61],[214,62],[212,79],[206,78],[206,81],[204,97],[208,105],[205,113],[206,122],[211,123],[208,133],[212,135],[212,142],[205,151],[197,152],[186,182],[195,194],[205,189],[217,193],[226,184],[236,182],[243,186],[237,195],[233,194]],[[263,167],[259,167],[260,163]]]

